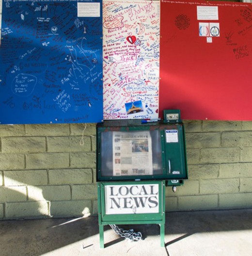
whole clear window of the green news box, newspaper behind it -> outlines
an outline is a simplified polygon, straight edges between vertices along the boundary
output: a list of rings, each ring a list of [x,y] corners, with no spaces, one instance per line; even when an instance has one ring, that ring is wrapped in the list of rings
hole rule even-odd
[[[101,134],[101,176],[162,175],[160,131]]]

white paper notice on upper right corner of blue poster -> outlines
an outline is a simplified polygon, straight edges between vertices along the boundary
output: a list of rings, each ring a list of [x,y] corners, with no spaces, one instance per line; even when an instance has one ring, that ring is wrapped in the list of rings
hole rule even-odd
[[[100,3],[77,3],[78,17],[99,17]]]

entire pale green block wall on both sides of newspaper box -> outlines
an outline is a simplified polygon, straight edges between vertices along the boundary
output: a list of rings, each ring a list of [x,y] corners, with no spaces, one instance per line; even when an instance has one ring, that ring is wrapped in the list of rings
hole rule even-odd
[[[166,189],[166,210],[252,208],[252,122],[184,123],[189,180]],[[0,219],[97,214],[95,124],[84,128],[0,126]]]

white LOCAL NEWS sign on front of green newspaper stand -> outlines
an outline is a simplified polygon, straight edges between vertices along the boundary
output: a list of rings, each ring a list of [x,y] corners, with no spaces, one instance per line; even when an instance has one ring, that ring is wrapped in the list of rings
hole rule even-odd
[[[106,214],[159,212],[158,184],[106,185]]]

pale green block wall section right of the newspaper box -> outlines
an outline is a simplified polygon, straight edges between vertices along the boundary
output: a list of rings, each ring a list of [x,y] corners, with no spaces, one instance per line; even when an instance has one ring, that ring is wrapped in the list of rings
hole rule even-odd
[[[252,208],[252,122],[185,121],[189,180],[166,210]]]

